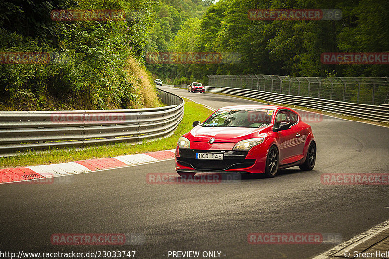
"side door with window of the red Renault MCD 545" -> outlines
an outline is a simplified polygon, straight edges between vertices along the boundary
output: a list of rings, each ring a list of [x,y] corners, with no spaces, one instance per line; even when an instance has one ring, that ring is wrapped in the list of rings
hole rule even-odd
[[[291,118],[292,115],[288,110],[280,110],[276,115],[275,125],[278,126],[281,122],[290,123],[292,126],[287,130],[278,131],[278,148],[280,156],[280,164],[293,163],[301,158],[299,156],[299,129],[297,123]]]

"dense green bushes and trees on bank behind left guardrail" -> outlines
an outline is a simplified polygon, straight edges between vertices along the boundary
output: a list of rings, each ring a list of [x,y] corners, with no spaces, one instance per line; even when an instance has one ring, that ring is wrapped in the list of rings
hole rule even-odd
[[[0,108],[154,105],[141,96],[142,88],[151,86],[148,75],[134,65],[151,30],[154,4],[152,0],[1,1],[0,52],[48,52],[51,59],[47,64],[0,64]],[[126,17],[53,21],[53,9],[124,10]]]

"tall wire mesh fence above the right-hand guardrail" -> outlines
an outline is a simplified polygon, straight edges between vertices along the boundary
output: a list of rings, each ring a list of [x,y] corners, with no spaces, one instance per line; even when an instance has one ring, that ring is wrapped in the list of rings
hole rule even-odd
[[[388,104],[389,77],[296,77],[207,75],[209,86],[224,86],[357,104]]]

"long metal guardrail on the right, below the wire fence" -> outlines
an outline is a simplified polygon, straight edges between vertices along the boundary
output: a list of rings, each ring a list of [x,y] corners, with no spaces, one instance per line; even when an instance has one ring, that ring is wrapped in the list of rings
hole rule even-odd
[[[363,119],[369,119],[373,121],[389,122],[388,106],[354,104],[313,97],[291,96],[285,94],[230,87],[206,86],[205,89],[208,92],[238,95],[249,98],[261,99],[267,102],[298,105],[326,112],[357,116]]]

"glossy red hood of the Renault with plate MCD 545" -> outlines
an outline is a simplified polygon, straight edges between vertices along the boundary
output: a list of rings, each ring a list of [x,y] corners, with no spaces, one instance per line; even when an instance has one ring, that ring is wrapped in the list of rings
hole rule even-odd
[[[248,138],[265,137],[269,131],[265,128],[239,128],[239,127],[202,127],[196,126],[184,135],[189,141],[208,142],[211,138],[215,142],[239,142]]]

